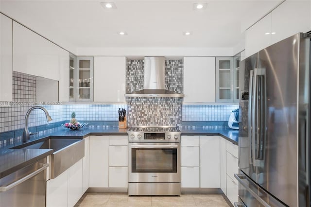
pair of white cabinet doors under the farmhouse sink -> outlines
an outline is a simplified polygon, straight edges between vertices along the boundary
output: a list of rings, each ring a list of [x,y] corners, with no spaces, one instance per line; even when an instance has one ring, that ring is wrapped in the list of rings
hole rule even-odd
[[[47,181],[46,207],[73,207],[82,196],[82,159]]]

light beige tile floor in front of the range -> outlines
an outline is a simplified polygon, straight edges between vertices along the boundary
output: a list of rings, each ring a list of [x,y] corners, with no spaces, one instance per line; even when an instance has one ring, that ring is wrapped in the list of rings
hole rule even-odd
[[[221,194],[181,196],[128,196],[120,193],[86,193],[75,207],[229,207]]]

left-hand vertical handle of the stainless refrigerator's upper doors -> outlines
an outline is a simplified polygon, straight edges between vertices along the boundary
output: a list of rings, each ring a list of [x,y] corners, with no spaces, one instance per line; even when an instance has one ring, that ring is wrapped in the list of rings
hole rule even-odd
[[[248,85],[248,138],[249,138],[249,163],[253,164],[253,149],[252,149],[252,98],[253,98],[253,70],[249,71]]]

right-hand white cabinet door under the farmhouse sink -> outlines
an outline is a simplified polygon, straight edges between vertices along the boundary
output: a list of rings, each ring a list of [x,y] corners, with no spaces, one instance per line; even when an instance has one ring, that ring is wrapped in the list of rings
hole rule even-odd
[[[82,159],[69,168],[68,207],[73,207],[83,195],[82,193]]]

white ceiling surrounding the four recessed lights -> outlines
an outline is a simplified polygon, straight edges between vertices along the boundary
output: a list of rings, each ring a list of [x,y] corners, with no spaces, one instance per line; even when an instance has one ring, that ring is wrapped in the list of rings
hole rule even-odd
[[[0,0],[0,11],[65,49],[232,48],[282,0]],[[202,11],[193,3],[207,2]],[[128,35],[118,35],[126,31]],[[193,34],[184,36],[184,31]]]

